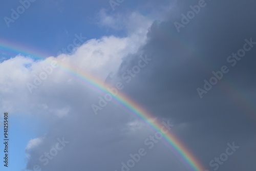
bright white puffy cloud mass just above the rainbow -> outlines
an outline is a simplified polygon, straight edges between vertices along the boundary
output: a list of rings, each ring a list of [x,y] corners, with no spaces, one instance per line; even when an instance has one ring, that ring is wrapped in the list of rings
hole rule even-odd
[[[131,41],[136,45],[140,43],[114,36],[89,40],[76,51],[76,55],[71,56],[71,65],[81,69],[81,72],[90,71],[92,75],[105,79],[111,72],[117,71],[123,55],[136,52],[137,48]]]

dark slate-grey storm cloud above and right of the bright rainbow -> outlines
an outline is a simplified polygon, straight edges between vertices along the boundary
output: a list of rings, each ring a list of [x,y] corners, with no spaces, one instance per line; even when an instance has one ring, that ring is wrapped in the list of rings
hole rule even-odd
[[[182,6],[177,5],[180,14],[186,14],[191,10],[189,5],[198,3],[182,2]],[[127,83],[126,94],[155,116],[186,124],[176,130],[177,134],[206,168],[212,169],[208,162],[222,154],[228,142],[234,141],[240,146],[234,154],[236,157],[218,169],[255,169],[251,159],[255,159],[252,144],[256,130],[253,106],[256,4],[252,1],[205,2],[207,6],[179,33],[174,22],[181,23],[182,17],[177,13],[169,20],[155,22],[148,31],[147,44],[139,54],[126,57],[119,77],[133,68],[140,54],[147,54],[152,62]],[[245,56],[236,59],[236,63],[228,62],[227,58],[243,49],[244,44],[251,47]],[[220,71],[222,66],[227,66],[229,72],[223,73],[223,78],[201,99],[196,89],[203,89],[204,79],[209,81],[214,76],[212,71]]]

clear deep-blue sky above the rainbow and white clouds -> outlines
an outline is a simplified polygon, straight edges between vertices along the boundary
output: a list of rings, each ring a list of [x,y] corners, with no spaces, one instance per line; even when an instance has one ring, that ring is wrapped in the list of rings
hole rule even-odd
[[[125,10],[129,10],[131,3],[124,2],[124,5],[128,7]],[[11,9],[18,6],[19,1],[5,2],[1,16],[10,17]],[[122,6],[116,10],[122,10]],[[108,1],[35,1],[14,23],[10,23],[9,28],[2,19],[0,36],[18,45],[56,55],[73,41],[75,34],[81,33],[91,39],[114,33],[97,26],[95,18],[102,8],[114,12]]]

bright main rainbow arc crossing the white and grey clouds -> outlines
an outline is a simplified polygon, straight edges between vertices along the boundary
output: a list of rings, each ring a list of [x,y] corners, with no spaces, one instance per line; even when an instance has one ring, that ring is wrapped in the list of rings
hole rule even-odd
[[[25,51],[19,51],[12,47],[1,46],[2,50],[6,50],[9,52],[18,52],[20,55],[26,55],[31,58],[44,59],[43,57],[38,57],[37,55],[31,55],[29,53],[25,53]],[[97,79],[93,75],[90,75],[87,72],[77,71],[75,66],[70,66],[67,62],[59,63],[59,68],[61,71],[65,72],[67,75],[71,76],[76,81],[80,82],[84,86],[92,89],[98,94],[109,93],[107,85],[100,79]],[[161,132],[162,124],[158,121],[150,122],[154,120],[152,114],[148,113],[145,109],[143,109],[140,105],[138,105],[135,101],[125,96],[121,92],[118,92],[116,96],[113,98],[113,102],[120,106],[124,111],[132,115],[134,118],[140,120],[145,123],[151,130],[154,132]],[[203,171],[204,167],[200,164],[200,162],[193,156],[189,150],[182,144],[182,142],[171,132],[169,131],[166,134],[163,134],[163,143],[173,152],[176,156],[184,163],[184,165],[189,170],[194,171]]]

